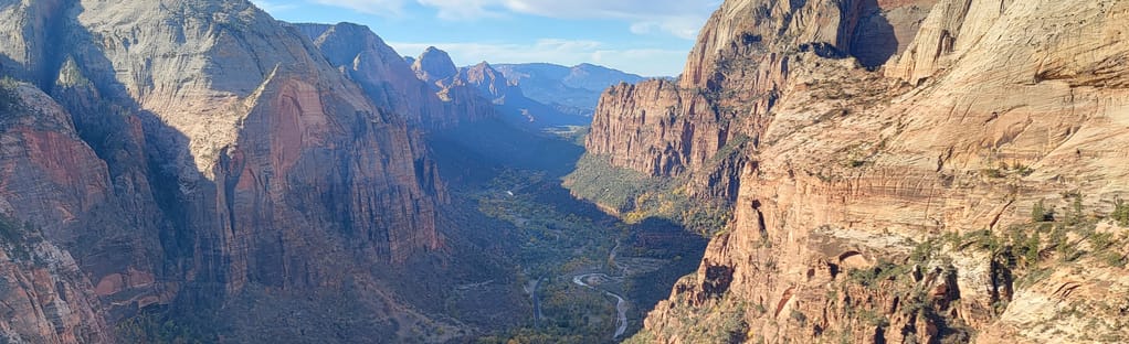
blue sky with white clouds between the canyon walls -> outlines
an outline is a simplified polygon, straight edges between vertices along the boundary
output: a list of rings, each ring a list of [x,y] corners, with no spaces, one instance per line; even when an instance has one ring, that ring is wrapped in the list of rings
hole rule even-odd
[[[351,21],[397,52],[455,63],[584,62],[677,76],[720,0],[253,0],[292,23]]]

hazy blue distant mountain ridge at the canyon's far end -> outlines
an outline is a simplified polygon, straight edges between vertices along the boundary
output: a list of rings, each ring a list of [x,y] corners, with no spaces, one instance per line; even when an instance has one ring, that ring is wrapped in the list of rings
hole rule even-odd
[[[495,69],[510,82],[518,85],[531,99],[586,117],[595,113],[599,95],[607,87],[647,80],[646,77],[590,63],[575,67],[552,63],[497,64]]]

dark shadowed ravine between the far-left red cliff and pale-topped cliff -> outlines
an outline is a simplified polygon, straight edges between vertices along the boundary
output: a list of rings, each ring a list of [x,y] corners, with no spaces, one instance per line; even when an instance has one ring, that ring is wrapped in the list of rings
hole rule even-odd
[[[128,96],[125,87],[115,79],[110,60],[100,50],[90,46],[94,35],[78,24],[80,5],[68,2],[59,9],[49,27],[45,45],[51,47],[47,65],[40,71],[24,74],[35,78],[38,87],[51,95],[71,115],[79,139],[91,148],[106,164],[112,186],[110,201],[88,213],[78,214],[67,231],[78,233],[67,248],[78,261],[82,272],[95,285],[99,279],[126,270],[152,272],[155,283],[137,290],[124,290],[102,301],[110,310],[111,323],[133,316],[140,297],[168,292],[176,276],[187,271],[196,235],[189,221],[178,221],[168,214],[183,213],[183,204],[173,200],[181,179],[203,180],[200,187],[213,187],[205,178],[178,174],[195,171],[169,166],[168,161],[183,157],[194,166],[187,155],[189,138],[168,126],[155,114],[142,111]],[[62,29],[67,34],[58,34]],[[64,71],[68,59],[76,59],[76,70]],[[61,73],[89,79],[78,85],[56,85]],[[78,76],[75,76],[77,73]],[[73,79],[73,78],[72,78]],[[218,248],[216,248],[218,252]],[[207,258],[200,262],[207,262]],[[218,263],[218,259],[216,259]],[[221,294],[222,289],[209,289],[203,296]],[[108,307],[108,305],[116,305]]]

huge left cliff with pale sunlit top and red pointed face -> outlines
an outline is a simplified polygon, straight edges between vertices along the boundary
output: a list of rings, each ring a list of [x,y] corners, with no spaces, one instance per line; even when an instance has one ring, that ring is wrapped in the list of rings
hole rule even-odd
[[[149,174],[180,185],[164,211],[195,244],[178,273],[233,293],[334,285],[341,262],[395,264],[443,247],[443,186],[403,117],[247,2],[155,6],[85,5],[79,38],[115,38],[73,44],[106,53],[77,64],[114,92],[104,96],[135,104],[125,111],[164,169]],[[138,19],[107,19],[119,14]]]

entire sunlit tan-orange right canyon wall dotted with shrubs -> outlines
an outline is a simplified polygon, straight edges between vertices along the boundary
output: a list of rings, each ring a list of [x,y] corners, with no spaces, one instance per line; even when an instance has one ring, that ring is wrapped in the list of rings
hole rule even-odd
[[[1127,252],[1093,238],[1126,239],[1106,215],[1129,193],[1127,6],[723,3],[682,80],[610,90],[587,142],[734,176],[692,183],[734,189],[734,220],[636,339],[1124,341],[1126,302],[1097,290],[1127,289]],[[742,136],[743,164],[718,162]],[[1040,200],[1054,221],[1027,224]],[[1016,257],[1040,231],[1058,244]]]

